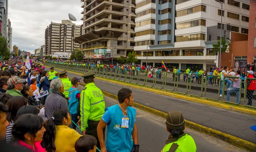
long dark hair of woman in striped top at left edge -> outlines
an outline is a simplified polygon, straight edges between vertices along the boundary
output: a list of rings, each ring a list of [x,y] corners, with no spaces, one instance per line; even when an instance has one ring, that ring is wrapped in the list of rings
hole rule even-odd
[[[10,122],[16,120],[16,115],[18,110],[24,106],[27,105],[27,99],[23,96],[14,96],[11,99],[9,99],[7,106],[8,106],[8,114],[7,114],[7,120]]]

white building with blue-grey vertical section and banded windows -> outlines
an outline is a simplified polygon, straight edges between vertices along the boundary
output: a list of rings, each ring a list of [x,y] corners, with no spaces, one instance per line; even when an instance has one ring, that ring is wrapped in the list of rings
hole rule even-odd
[[[250,0],[223,0],[222,33],[227,42],[232,39],[231,31],[248,34],[249,4]],[[220,39],[220,3],[136,0],[136,6],[136,15],[142,16],[135,19],[134,50],[141,64],[160,67],[163,60],[168,68],[182,70],[218,66],[218,54],[212,54],[212,44]]]

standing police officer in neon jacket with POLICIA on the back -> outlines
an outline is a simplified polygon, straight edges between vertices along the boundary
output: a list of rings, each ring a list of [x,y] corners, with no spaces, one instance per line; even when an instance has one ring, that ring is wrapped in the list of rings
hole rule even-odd
[[[100,149],[97,126],[105,112],[105,101],[102,91],[94,84],[94,75],[93,71],[82,75],[85,87],[80,96],[81,130],[83,135],[94,136],[98,141],[97,147]],[[105,128],[103,132],[105,134]]]

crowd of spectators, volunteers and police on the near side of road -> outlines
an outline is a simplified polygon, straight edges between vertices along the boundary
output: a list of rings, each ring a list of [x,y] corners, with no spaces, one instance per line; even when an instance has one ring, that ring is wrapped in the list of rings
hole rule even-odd
[[[93,71],[69,79],[65,70],[29,64],[31,69],[22,60],[0,65],[1,151],[139,152],[130,89],[119,90],[118,104],[106,108]],[[81,80],[85,87],[80,91]],[[169,137],[162,152],[196,151],[179,111],[170,111],[165,123]]]

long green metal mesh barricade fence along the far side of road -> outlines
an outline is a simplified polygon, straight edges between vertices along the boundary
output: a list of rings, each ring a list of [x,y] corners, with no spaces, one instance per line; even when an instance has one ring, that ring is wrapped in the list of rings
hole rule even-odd
[[[256,79],[252,78],[242,81],[241,78],[227,76],[224,80],[221,80],[220,76],[204,76],[194,73],[91,67],[48,62],[44,63],[44,65],[77,73],[94,71],[96,73],[95,76],[106,79],[223,101],[224,103],[242,104],[243,102],[244,106],[256,109],[256,91],[253,90],[256,90]],[[237,87],[237,83],[234,86],[234,83],[237,81],[240,82],[239,87]],[[254,87],[253,84],[255,85]]]

